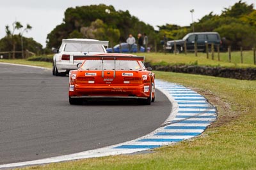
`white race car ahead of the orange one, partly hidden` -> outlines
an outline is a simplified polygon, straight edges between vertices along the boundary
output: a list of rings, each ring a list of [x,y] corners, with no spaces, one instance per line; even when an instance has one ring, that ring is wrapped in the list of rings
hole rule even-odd
[[[108,41],[99,41],[96,39],[63,39],[59,49],[54,49],[52,62],[52,75],[64,76],[70,70],[77,69],[77,64],[81,61],[79,57],[83,55],[93,55],[97,53],[107,53]]]

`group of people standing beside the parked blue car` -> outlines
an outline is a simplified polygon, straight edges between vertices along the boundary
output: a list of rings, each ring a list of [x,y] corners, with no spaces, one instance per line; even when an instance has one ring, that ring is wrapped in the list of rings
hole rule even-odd
[[[133,52],[132,48],[134,46],[134,44],[136,43],[136,39],[132,36],[132,34],[129,34],[129,38],[126,39],[126,42],[129,45],[129,52]],[[138,43],[137,43],[137,52],[141,51],[141,46],[144,47],[144,52],[147,52],[147,47],[148,47],[148,36],[146,33],[142,34],[139,33],[138,34]]]

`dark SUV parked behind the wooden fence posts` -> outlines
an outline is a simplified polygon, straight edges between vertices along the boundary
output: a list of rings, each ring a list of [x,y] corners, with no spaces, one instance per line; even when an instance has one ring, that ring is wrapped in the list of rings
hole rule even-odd
[[[186,34],[183,39],[167,41],[166,50],[174,51],[174,42],[176,43],[176,52],[184,51],[184,44],[186,41],[187,51],[195,50],[195,42],[197,43],[197,50],[205,52],[206,44],[208,43],[209,49],[211,49],[211,43],[214,44],[216,49],[217,45],[221,45],[220,34],[218,32],[192,32]]]

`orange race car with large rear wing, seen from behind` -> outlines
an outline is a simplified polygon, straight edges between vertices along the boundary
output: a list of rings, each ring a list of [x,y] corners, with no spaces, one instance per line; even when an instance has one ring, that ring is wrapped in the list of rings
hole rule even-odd
[[[145,58],[123,53],[74,56],[84,60],[69,72],[69,103],[86,98],[130,98],[142,104],[155,101],[155,74],[143,64]]]

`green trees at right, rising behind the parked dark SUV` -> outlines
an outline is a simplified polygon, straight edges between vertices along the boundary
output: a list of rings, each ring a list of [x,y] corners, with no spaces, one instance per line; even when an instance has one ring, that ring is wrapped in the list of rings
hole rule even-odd
[[[219,32],[224,46],[232,49],[251,50],[256,46],[256,10],[253,4],[238,1],[229,8],[224,8],[220,15],[212,11],[195,22],[195,32]],[[166,24],[159,26],[159,34],[166,34],[168,39],[183,38],[188,32],[193,32],[191,26]]]

